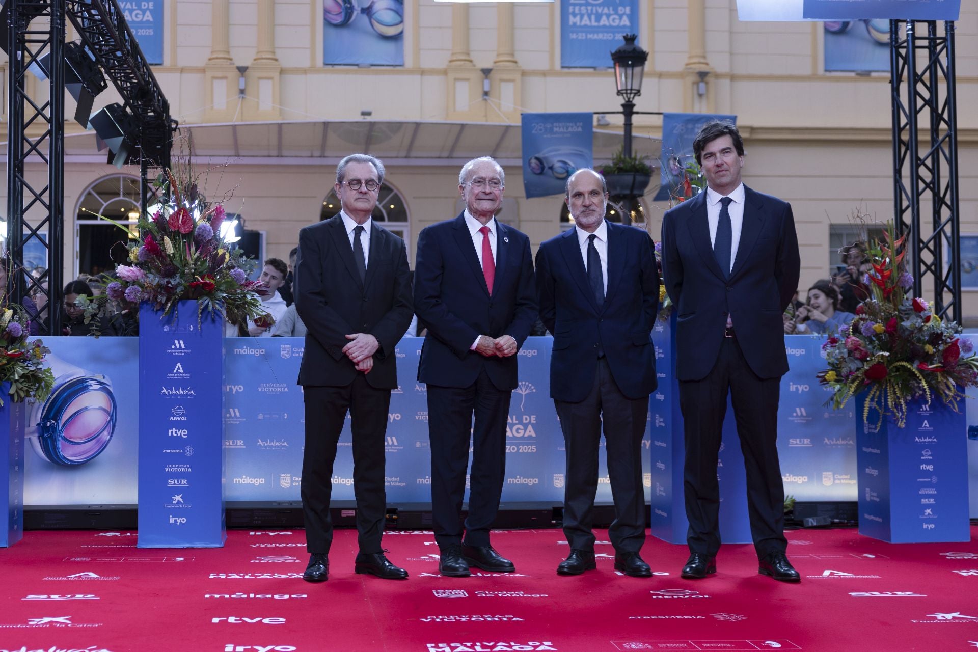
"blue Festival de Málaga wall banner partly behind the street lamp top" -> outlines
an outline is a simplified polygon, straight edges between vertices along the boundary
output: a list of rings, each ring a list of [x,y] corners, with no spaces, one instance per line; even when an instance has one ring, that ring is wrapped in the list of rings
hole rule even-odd
[[[560,65],[610,67],[625,34],[639,33],[639,0],[561,0]]]

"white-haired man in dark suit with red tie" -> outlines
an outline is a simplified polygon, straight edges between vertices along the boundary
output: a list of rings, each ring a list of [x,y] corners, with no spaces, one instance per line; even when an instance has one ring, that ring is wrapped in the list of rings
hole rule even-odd
[[[503,168],[492,158],[468,161],[459,174],[466,209],[418,238],[415,312],[427,326],[418,379],[427,383],[431,520],[441,550],[439,572],[451,577],[467,577],[469,565],[494,573],[514,570],[489,543],[489,526],[505,479],[515,354],[536,321],[537,307],[530,241],[494,217],[504,183]]]

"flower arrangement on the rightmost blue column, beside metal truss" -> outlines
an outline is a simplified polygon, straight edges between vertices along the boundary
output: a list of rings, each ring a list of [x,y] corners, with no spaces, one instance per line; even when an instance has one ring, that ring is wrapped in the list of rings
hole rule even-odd
[[[875,409],[880,421],[891,415],[904,427],[911,399],[924,397],[929,404],[936,396],[957,412],[960,388],[978,385],[978,356],[971,341],[959,337],[960,326],[908,294],[913,278],[901,250],[906,236],[897,239],[892,222],[883,236],[868,250],[872,272],[865,283],[872,295],[857,307],[856,319],[822,345],[828,369],[818,377],[833,390],[835,410],[867,392],[865,422]]]

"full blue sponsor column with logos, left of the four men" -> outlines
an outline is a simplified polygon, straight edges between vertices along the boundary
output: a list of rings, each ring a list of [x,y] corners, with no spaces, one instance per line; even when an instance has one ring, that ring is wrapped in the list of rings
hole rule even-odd
[[[224,545],[223,323],[147,304],[139,333],[139,547]]]

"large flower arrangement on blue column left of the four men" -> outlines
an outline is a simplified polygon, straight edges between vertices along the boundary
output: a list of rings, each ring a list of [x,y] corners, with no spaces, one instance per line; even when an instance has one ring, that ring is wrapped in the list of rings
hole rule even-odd
[[[129,265],[116,265],[105,295],[138,305],[146,301],[167,315],[178,301],[197,300],[203,311],[241,324],[262,315],[258,283],[248,281],[254,263],[232,249],[222,232],[226,213],[200,194],[196,180],[179,183],[166,170],[154,184],[161,199],[153,215],[141,215],[128,245]],[[132,238],[129,225],[115,224]]]

